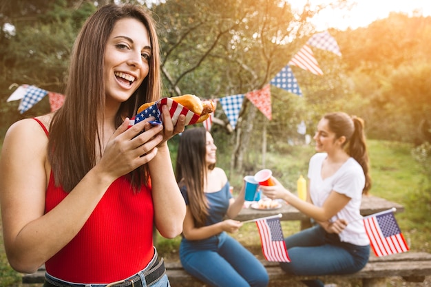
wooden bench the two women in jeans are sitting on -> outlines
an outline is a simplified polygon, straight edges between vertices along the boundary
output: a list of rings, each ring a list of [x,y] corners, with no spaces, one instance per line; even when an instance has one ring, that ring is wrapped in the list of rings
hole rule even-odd
[[[304,279],[314,279],[315,276],[291,276],[286,275],[277,262],[262,261],[268,271],[270,283],[269,287],[287,286],[288,282],[300,281]],[[202,287],[202,281],[192,277],[182,269],[180,262],[166,262],[167,275],[172,287]],[[45,268],[40,268],[36,273],[23,275],[22,283],[42,284]],[[388,277],[403,277],[409,282],[423,282],[426,276],[431,276],[431,254],[429,253],[400,253],[388,255],[386,257],[375,257],[372,255],[368,264],[355,274],[319,276],[325,282],[331,280],[352,280],[362,281],[362,287],[386,287]]]

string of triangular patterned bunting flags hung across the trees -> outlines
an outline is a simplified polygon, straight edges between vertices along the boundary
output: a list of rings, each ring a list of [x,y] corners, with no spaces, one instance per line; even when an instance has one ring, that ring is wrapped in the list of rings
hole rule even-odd
[[[271,85],[284,89],[287,92],[296,94],[297,96],[302,96],[301,88],[293,74],[291,66],[300,67],[303,70],[312,72],[316,75],[324,74],[319,67],[319,63],[315,59],[313,50],[311,47],[316,47],[318,49],[327,50],[341,56],[337,41],[331,36],[327,31],[320,32],[311,36],[306,44],[292,57],[288,64],[280,70],[271,81],[264,85],[262,89],[253,90],[247,92],[246,94],[235,94],[231,96],[225,96],[223,98],[218,98],[214,101],[220,101],[224,114],[226,114],[229,123],[235,129],[238,123],[238,116],[240,115],[240,110],[242,108],[242,103],[244,98],[248,100],[259,109],[266,118],[272,119],[271,110]],[[23,114],[28,111],[31,107],[39,103],[39,101],[48,95],[50,97],[51,111],[59,109],[63,105],[65,96],[55,92],[45,91],[34,85],[21,85],[14,93],[8,98],[8,102],[11,100],[21,100],[19,104],[19,111]],[[213,123],[214,115],[211,114],[207,120],[204,121],[204,127],[210,130]]]

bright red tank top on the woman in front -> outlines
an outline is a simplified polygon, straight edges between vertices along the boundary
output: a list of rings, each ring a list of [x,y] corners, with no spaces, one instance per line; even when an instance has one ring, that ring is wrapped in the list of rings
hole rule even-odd
[[[51,173],[45,213],[67,194],[55,187]],[[129,180],[122,176],[107,189],[74,239],[48,259],[46,270],[65,281],[87,284],[130,277],[143,270],[154,255],[153,222],[151,189],[143,187],[134,193]]]

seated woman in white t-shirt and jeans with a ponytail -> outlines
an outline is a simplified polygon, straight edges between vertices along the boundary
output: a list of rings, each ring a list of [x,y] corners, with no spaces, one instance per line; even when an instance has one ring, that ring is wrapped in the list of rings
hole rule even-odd
[[[317,153],[308,167],[306,202],[275,178],[275,186],[260,187],[267,197],[286,200],[315,223],[284,239],[291,262],[280,266],[293,275],[356,273],[370,255],[359,212],[362,194],[371,187],[364,121],[343,112],[326,114],[317,125],[314,140]],[[320,280],[303,283],[324,286]]]

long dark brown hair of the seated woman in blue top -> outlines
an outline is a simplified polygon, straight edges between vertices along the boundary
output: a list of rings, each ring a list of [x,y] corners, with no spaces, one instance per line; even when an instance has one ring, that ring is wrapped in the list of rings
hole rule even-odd
[[[187,188],[189,209],[196,226],[204,226],[208,216],[208,202],[204,195],[207,177],[207,131],[204,127],[186,129],[180,136],[176,159],[176,180],[180,188]],[[210,169],[213,169],[211,165]]]

